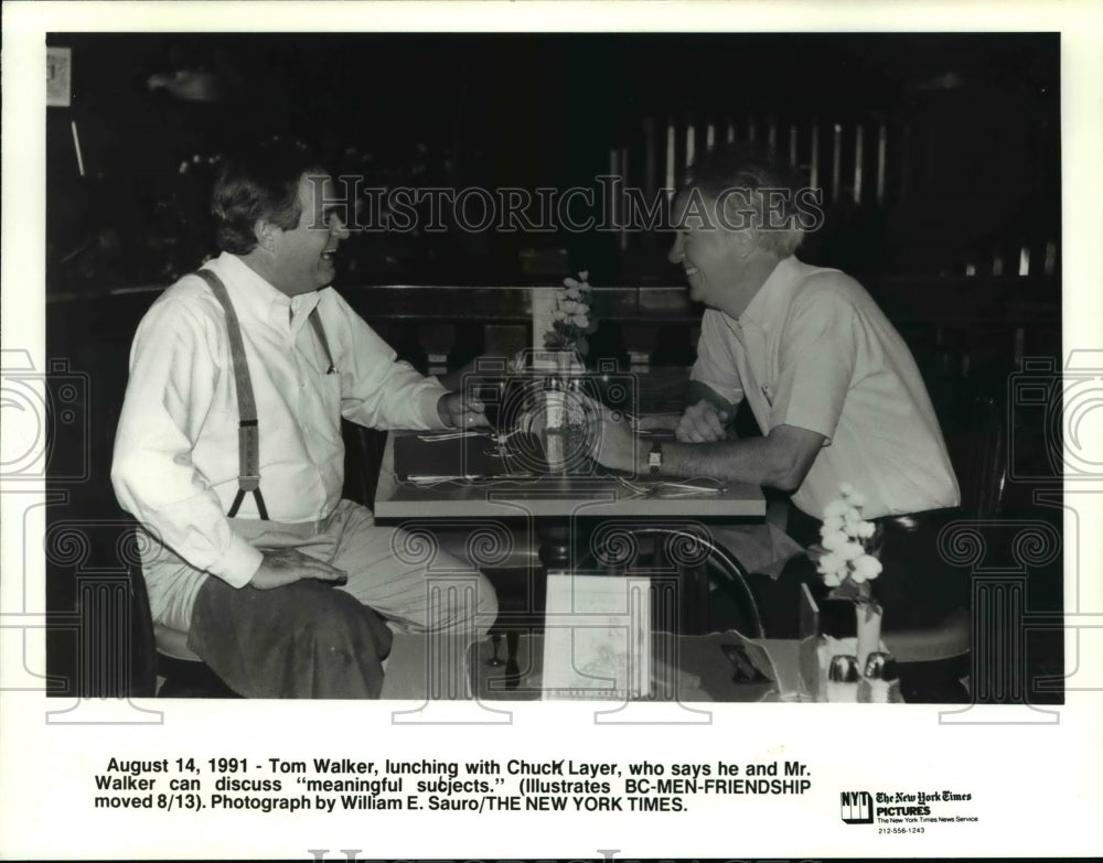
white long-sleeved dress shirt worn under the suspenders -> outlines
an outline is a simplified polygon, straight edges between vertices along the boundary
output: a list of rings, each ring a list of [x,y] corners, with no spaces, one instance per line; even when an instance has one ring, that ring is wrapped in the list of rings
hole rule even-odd
[[[445,388],[396,362],[332,288],[289,298],[228,252],[204,266],[225,283],[240,322],[259,420],[260,492],[274,521],[319,521],[336,507],[342,416],[384,429],[442,427]],[[329,374],[308,323],[315,305],[335,366]],[[225,314],[202,279],[185,276],[138,327],[111,465],[124,509],[194,568],[165,567],[159,582],[154,555],[143,554],[154,619],[170,604],[190,608],[204,573],[242,586],[260,565],[260,552],[225,515],[238,488],[237,423]],[[258,517],[246,494],[237,518]]]

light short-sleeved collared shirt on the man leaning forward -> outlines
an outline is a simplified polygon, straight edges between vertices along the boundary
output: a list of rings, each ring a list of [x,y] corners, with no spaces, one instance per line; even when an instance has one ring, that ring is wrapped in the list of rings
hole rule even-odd
[[[866,290],[838,270],[785,258],[733,320],[708,310],[693,379],[778,425],[826,443],[793,503],[823,518],[840,483],[866,518],[960,501],[942,431],[911,352]]]

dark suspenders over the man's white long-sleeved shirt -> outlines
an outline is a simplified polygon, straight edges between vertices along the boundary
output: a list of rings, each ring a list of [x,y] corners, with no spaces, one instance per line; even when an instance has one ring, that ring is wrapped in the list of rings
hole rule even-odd
[[[253,397],[253,380],[249,377],[249,363],[245,356],[245,343],[242,341],[242,326],[237,321],[237,313],[234,304],[229,301],[229,293],[222,279],[211,270],[196,270],[196,276],[203,279],[214,292],[215,298],[226,312],[226,328],[229,331],[229,356],[234,366],[234,382],[237,387],[237,496],[234,498],[228,518],[237,515],[245,494],[251,492],[257,501],[257,513],[263,521],[268,520],[268,509],[265,507],[265,499],[260,494],[260,429],[257,425],[257,402]],[[322,345],[325,358],[329,360],[325,373],[333,374],[333,355],[330,353],[330,345],[325,338],[325,331],[318,316],[315,306],[310,313],[310,324],[318,335],[318,341]]]

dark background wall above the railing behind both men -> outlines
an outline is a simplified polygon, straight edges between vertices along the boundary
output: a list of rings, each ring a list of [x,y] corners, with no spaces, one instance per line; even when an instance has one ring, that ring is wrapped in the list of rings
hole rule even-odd
[[[54,34],[71,108],[47,110],[51,292],[159,284],[211,251],[210,160],[309,139],[367,184],[595,187],[611,151],[662,183],[666,130],[774,138],[827,227],[804,257],[857,272],[963,273],[994,257],[1059,266],[1056,34]],[[160,76],[160,77],[154,77]],[[173,77],[179,76],[179,77]],[[79,176],[71,123],[81,136]],[[650,126],[649,126],[650,125]],[[839,138],[835,139],[835,127]],[[855,131],[865,132],[855,199]],[[647,129],[651,131],[646,131]],[[874,199],[878,133],[885,194]],[[818,150],[811,150],[813,129]],[[651,175],[647,138],[657,147]],[[843,181],[831,188],[838,149]],[[347,244],[343,283],[494,284],[587,267],[671,282],[662,231],[456,229]],[[550,263],[532,265],[533,250]],[[558,255],[555,250],[563,250]],[[527,256],[527,257],[526,257]],[[526,263],[527,262],[527,263]]]

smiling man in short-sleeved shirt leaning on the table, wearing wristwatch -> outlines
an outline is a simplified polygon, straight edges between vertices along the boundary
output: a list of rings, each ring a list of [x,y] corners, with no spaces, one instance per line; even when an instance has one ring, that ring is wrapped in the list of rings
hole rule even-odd
[[[752,148],[697,159],[675,201],[670,255],[706,306],[689,407],[657,459],[608,419],[597,457],[644,474],[654,466],[780,489],[792,496],[789,533],[800,546],[815,540],[843,483],[865,495],[867,518],[944,519],[959,504],[957,482],[911,352],[857,281],[794,255],[822,216],[810,193]],[[745,399],[762,436],[733,440],[729,424]],[[887,568],[878,586],[891,591],[909,574]],[[912,600],[921,590],[901,589]],[[795,616],[795,593],[786,596]]]

